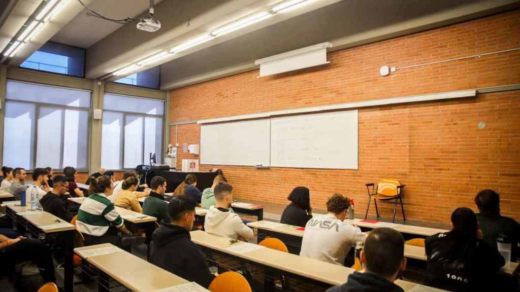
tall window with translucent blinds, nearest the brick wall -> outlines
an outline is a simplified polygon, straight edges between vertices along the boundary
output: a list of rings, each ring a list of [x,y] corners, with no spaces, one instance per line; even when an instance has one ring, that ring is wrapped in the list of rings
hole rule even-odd
[[[162,161],[164,101],[105,94],[103,97],[101,166],[135,168]]]

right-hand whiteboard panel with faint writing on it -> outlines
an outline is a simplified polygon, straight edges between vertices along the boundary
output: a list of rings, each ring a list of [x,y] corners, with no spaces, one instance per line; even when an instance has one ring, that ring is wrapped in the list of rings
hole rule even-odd
[[[271,166],[358,169],[358,111],[271,118]]]

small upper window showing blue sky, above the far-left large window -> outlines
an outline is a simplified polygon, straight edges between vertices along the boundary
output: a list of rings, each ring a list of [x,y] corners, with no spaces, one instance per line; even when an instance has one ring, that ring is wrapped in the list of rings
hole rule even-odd
[[[20,67],[83,77],[85,49],[47,42]]]

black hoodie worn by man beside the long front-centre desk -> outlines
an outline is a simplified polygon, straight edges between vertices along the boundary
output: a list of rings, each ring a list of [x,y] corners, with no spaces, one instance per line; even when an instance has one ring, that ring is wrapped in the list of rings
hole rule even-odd
[[[188,230],[162,221],[152,234],[151,263],[188,281],[208,287],[215,276],[199,247],[191,241]]]

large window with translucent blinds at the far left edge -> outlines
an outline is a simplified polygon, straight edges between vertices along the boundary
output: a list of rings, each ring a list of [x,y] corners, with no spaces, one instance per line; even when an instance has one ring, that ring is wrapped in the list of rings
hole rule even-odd
[[[3,163],[87,169],[90,91],[7,81]]]

